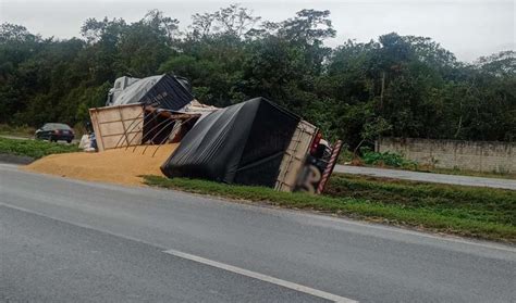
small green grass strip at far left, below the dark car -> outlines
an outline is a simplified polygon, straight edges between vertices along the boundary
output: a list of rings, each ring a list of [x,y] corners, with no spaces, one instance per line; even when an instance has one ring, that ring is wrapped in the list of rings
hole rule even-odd
[[[76,144],[61,144],[38,140],[8,139],[0,137],[0,153],[25,155],[34,159],[64,152],[79,151]]]

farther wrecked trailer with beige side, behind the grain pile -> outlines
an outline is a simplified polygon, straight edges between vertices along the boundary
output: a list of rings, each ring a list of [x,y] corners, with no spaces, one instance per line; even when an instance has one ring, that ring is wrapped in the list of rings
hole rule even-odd
[[[217,110],[197,102],[186,79],[120,77],[105,108],[89,110],[99,151],[177,142],[200,116]]]

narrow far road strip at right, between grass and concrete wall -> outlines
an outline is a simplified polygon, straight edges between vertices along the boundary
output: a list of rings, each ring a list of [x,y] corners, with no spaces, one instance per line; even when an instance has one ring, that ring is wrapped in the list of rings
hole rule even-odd
[[[431,173],[419,173],[419,172],[401,171],[401,169],[388,169],[388,168],[374,168],[374,167],[348,166],[348,165],[335,165],[335,168],[333,171],[336,173],[365,175],[365,176],[373,176],[373,177],[382,177],[382,178],[393,178],[393,179],[402,179],[402,180],[475,186],[475,187],[491,187],[491,188],[503,188],[503,189],[516,190],[516,180],[500,179],[500,178],[483,178],[483,177],[470,177],[470,176],[458,176],[458,175],[431,174]]]

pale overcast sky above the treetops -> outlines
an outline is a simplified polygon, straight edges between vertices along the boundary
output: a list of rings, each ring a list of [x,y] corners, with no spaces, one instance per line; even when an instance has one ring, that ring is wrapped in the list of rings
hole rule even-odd
[[[302,9],[330,10],[337,36],[327,42],[336,46],[347,39],[368,41],[391,31],[431,37],[462,61],[474,61],[501,50],[515,50],[515,4],[511,0],[426,1],[210,1],[210,0],[0,0],[0,23],[22,24],[44,37],[79,36],[88,17],[142,18],[159,9],[177,18],[185,28],[194,13],[212,12],[238,2],[269,21],[294,16]]]

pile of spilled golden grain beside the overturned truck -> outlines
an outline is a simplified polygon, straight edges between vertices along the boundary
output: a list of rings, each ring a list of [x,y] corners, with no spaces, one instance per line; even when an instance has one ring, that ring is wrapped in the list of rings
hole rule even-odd
[[[157,149],[156,146],[149,146],[145,153],[145,147],[140,146],[134,151],[133,148],[122,148],[99,153],[52,154],[33,162],[24,169],[88,181],[142,186],[142,177],[138,176],[163,176],[159,167],[176,147],[164,144]]]

